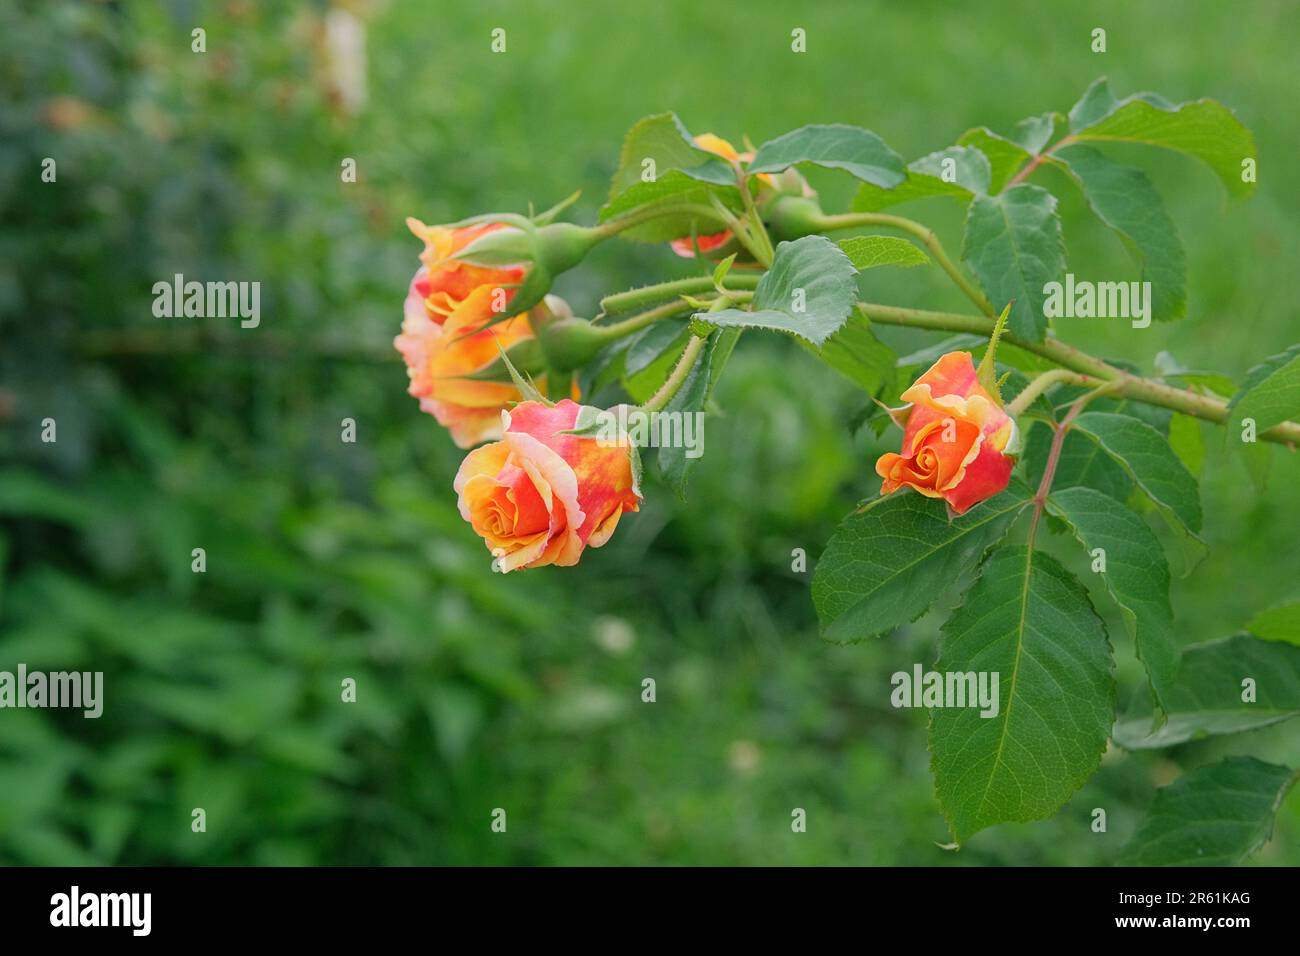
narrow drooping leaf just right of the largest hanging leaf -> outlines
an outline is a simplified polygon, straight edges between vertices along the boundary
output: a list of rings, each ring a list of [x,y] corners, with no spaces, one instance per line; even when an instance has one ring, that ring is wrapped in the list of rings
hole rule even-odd
[[[1091,488],[1053,492],[1048,510],[1070,525],[1092,562],[1097,561],[1096,549],[1104,551],[1101,579],[1119,605],[1124,628],[1147,667],[1156,700],[1164,706],[1178,671],[1179,653],[1169,605],[1169,562],[1160,540],[1139,515]]]

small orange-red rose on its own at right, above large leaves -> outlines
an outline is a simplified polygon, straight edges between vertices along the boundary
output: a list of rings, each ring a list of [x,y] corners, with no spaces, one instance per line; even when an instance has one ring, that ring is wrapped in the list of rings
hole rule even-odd
[[[963,514],[1006,488],[1015,420],[979,384],[970,352],[944,355],[902,399],[911,402],[902,453],[876,462],[881,494],[907,485]]]

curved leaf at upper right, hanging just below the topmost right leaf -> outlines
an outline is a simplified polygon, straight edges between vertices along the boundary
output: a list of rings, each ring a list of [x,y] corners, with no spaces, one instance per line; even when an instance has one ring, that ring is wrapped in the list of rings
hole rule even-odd
[[[1119,233],[1150,282],[1150,317],[1187,315],[1187,259],[1174,221],[1150,179],[1140,169],[1114,163],[1091,146],[1067,146],[1057,159],[1078,181],[1097,219]]]

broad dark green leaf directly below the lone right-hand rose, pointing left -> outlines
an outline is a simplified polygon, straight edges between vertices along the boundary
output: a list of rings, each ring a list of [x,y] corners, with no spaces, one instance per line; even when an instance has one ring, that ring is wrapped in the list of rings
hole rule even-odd
[[[1013,479],[1005,492],[952,520],[942,501],[913,492],[849,515],[812,576],[822,636],[859,641],[915,620],[1006,533],[1030,497]]]

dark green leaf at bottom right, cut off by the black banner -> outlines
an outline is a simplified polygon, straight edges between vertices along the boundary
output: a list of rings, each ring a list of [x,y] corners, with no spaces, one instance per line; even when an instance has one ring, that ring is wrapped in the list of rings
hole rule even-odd
[[[1197,767],[1156,792],[1124,847],[1127,866],[1231,866],[1273,834],[1273,817],[1296,775],[1254,757]]]

